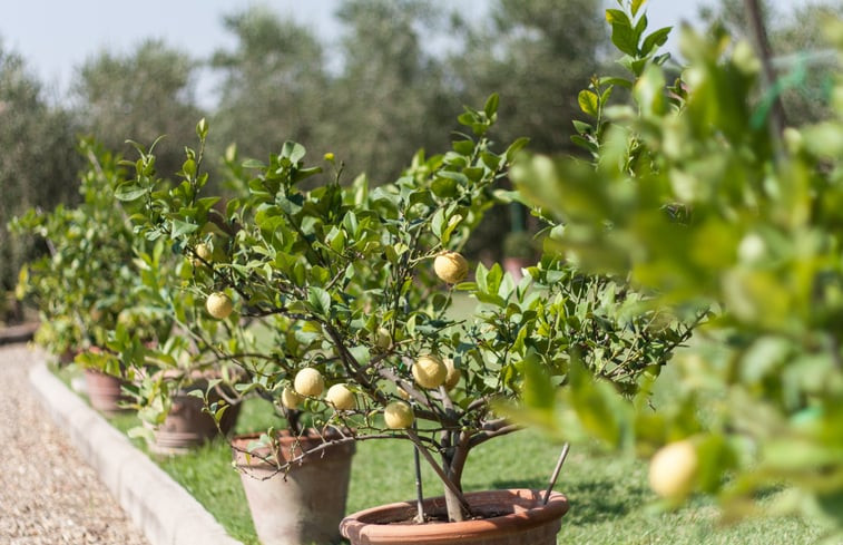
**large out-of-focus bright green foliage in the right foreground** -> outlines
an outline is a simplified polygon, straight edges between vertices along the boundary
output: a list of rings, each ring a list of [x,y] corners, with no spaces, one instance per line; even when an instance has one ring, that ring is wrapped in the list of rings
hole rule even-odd
[[[568,259],[628,273],[659,304],[709,308],[714,317],[677,359],[680,386],[657,411],[646,395],[629,403],[572,373],[577,386],[530,418],[645,456],[689,438],[693,480],[676,489],[712,494],[726,519],[800,514],[836,543],[843,21],[824,25],[836,51],[824,105],[833,115],[778,134],[768,126],[775,88],[759,84],[752,46],[722,27],[685,29],[688,66],[668,79],[657,56],[641,57],[636,4],[609,13],[629,84],[596,78],[581,94],[589,120],[576,125],[575,139],[592,163],[535,156],[516,177],[542,215],[561,222],[551,236]],[[631,103],[612,101],[611,85],[629,85]],[[673,478],[669,466],[654,471]],[[787,492],[761,509],[757,499],[780,486]]]

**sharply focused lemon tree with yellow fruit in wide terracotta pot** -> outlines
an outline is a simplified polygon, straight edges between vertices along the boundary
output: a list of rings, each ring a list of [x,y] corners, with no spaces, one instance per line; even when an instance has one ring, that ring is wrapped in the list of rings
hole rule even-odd
[[[520,399],[530,374],[565,386],[575,361],[633,393],[689,334],[624,282],[584,275],[552,255],[516,283],[500,266],[474,267],[460,254],[484,212],[507,198],[497,182],[526,145],[494,149],[497,105],[492,96],[483,109],[467,108],[459,121],[468,134],[449,152],[419,153],[379,187],[365,176],[344,183],[331,154],[308,165],[304,147],[288,142],[268,163],[236,165],[247,193],[224,207],[204,196],[207,176],[193,150],[183,183],[168,188],[154,155],[139,149],[136,176],[116,192],[139,206],[145,236],[188,255],[199,255],[209,223],[223,226],[226,259],[207,263],[188,289],[218,320],[273,320],[265,352],[237,353],[236,342],[215,350],[244,368],[245,390],[274,397],[293,422],[304,411],[310,429],[294,425],[292,444],[267,432],[235,445],[238,459],[293,475],[355,441],[399,438],[432,467],[443,497],[350,516],[342,532],[352,543],[399,531],[384,543],[459,543],[457,535],[503,543],[496,533],[512,532],[525,543],[555,543],[568,508],[561,494],[462,488],[471,450],[520,429],[496,403]],[[204,121],[197,134],[202,146]],[[459,293],[477,299],[476,315],[450,313]]]

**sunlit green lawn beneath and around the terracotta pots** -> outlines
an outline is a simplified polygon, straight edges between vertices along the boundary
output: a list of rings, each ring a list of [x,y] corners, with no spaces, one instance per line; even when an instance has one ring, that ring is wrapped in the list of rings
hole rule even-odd
[[[249,402],[237,431],[268,424],[264,403]],[[252,424],[251,424],[252,422]],[[120,429],[135,417],[112,419]],[[257,426],[259,427],[259,426]],[[140,448],[143,445],[138,444]],[[520,431],[477,448],[464,475],[467,490],[504,487],[545,488],[559,445],[536,431]],[[229,534],[257,544],[239,476],[231,467],[227,445],[215,441],[194,454],[153,458],[205,505]],[[388,468],[388,470],[385,470]],[[440,495],[434,475],[424,468],[425,495]],[[676,513],[654,513],[654,495],[646,485],[646,465],[575,445],[556,486],[571,504],[562,520],[559,544],[764,544],[813,543],[819,533],[797,519],[756,519],[717,526],[717,513],[702,499]],[[414,497],[412,448],[401,440],[363,441],[354,458],[347,512]]]

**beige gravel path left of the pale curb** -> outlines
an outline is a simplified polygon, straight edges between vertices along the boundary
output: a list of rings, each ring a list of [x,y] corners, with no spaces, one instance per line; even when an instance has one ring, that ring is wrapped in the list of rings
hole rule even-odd
[[[148,545],[38,405],[27,377],[38,358],[0,347],[0,543]]]

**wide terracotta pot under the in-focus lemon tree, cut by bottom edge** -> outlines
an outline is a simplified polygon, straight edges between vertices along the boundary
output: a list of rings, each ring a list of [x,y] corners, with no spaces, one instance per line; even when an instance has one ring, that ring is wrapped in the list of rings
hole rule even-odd
[[[465,494],[473,513],[486,518],[462,523],[414,524],[415,502],[382,505],[347,516],[340,524],[352,545],[556,545],[568,499],[523,488]],[[443,497],[424,500],[428,516],[445,517]],[[447,519],[447,518],[444,518]]]

